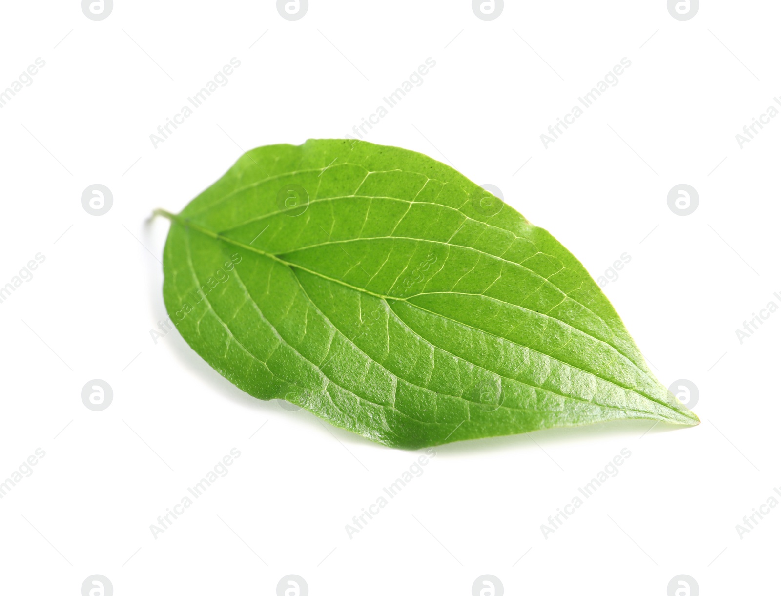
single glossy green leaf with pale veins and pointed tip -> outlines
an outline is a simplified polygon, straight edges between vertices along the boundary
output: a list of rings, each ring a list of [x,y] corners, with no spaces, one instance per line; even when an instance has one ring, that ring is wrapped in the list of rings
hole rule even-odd
[[[562,244],[426,155],[260,147],[179,215],[160,213],[171,318],[256,398],[400,448],[699,423]]]

